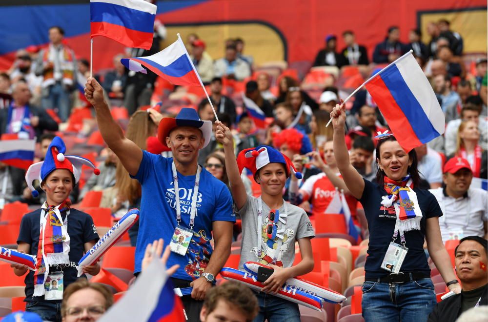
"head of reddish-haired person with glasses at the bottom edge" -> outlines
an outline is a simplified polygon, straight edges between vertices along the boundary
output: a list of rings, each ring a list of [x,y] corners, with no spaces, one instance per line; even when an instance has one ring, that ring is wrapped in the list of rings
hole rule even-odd
[[[63,298],[63,322],[97,321],[114,303],[114,297],[107,287],[84,279],[66,287]]]

